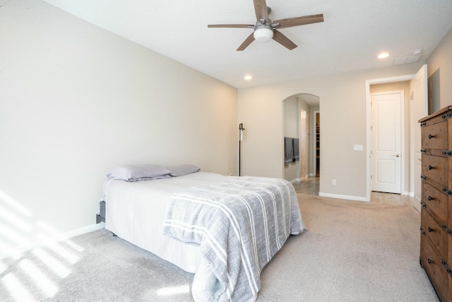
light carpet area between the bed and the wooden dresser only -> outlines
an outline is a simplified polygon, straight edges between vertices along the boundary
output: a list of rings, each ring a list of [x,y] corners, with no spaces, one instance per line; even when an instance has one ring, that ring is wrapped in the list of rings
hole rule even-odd
[[[416,209],[299,201],[309,232],[289,238],[267,265],[259,301],[438,301],[419,264]]]

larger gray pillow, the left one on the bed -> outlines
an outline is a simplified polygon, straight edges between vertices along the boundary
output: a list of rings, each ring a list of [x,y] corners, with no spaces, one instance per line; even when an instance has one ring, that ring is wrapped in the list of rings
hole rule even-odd
[[[142,165],[120,165],[107,173],[109,180],[153,180],[168,178],[171,171],[160,165],[142,164]]]

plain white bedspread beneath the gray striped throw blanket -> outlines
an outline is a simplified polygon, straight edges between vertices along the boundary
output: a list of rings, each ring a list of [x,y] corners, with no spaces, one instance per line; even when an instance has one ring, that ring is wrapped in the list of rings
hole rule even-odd
[[[162,180],[106,180],[105,228],[124,240],[174,263],[186,272],[199,267],[199,245],[163,235],[163,221],[174,192],[220,182],[229,176],[198,172]]]

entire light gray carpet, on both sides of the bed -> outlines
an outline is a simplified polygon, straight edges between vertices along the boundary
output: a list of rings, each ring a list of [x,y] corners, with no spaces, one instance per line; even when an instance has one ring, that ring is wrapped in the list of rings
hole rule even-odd
[[[263,269],[258,301],[438,301],[419,265],[414,208],[303,194],[299,203],[309,232]],[[192,274],[105,230],[1,260],[0,273],[0,301],[192,301]],[[172,287],[182,293],[165,294]]]

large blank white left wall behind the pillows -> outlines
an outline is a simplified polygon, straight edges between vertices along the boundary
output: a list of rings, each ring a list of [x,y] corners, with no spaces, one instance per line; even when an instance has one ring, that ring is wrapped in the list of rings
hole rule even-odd
[[[0,258],[93,226],[115,165],[237,174],[237,89],[42,1],[0,28]]]

